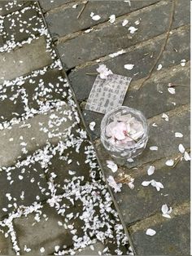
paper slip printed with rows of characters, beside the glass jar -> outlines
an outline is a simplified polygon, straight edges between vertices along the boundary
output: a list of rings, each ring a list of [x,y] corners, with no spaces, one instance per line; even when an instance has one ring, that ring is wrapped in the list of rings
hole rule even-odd
[[[121,106],[130,82],[131,77],[111,74],[107,79],[102,79],[98,75],[90,91],[85,109],[104,114]]]

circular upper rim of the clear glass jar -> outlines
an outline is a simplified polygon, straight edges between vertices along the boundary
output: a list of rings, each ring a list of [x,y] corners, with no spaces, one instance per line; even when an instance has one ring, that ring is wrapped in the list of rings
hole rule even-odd
[[[144,135],[142,136],[141,139],[139,139],[137,141],[137,143],[134,144],[134,146],[127,147],[127,148],[121,148],[121,147],[118,147],[116,145],[111,144],[110,142],[108,142],[108,143],[111,145],[111,147],[117,148],[120,151],[127,150],[127,149],[129,149],[129,150],[133,149],[134,150],[135,148],[137,148],[137,146],[139,144],[142,143],[142,141],[144,141],[149,136],[149,126],[148,126],[148,122],[146,120],[146,117],[143,115],[142,111],[137,110],[136,108],[129,108],[127,106],[120,106],[120,107],[111,109],[108,113],[105,114],[105,116],[103,117],[103,120],[101,122],[101,135],[103,135],[104,139],[106,139],[106,140],[108,139],[107,136],[105,135],[105,129],[104,129],[104,126],[106,126],[105,123],[106,123],[108,117],[111,115],[111,113],[114,113],[114,112],[118,111],[121,108],[124,108],[124,109],[130,111],[131,113],[136,113],[137,115],[140,115],[140,117],[142,117],[142,121],[143,121],[143,125],[144,125],[143,126]]]

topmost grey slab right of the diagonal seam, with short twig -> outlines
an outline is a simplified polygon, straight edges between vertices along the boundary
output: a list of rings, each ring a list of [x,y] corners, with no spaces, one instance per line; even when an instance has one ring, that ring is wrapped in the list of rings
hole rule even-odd
[[[46,22],[50,28],[50,33],[52,35],[56,34],[60,38],[70,33],[89,29],[96,24],[103,23],[109,20],[111,14],[118,17],[154,4],[155,2],[158,2],[158,0],[132,2],[131,6],[129,6],[129,2],[124,1],[90,1],[79,19],[76,19],[76,17],[84,6],[83,3],[78,4],[76,9],[72,8],[72,6],[67,8],[60,7],[57,11],[48,12]],[[100,15],[101,19],[98,21],[92,20],[90,17],[91,12],[94,12],[95,15]],[[70,22],[68,22],[68,20],[70,20]]]

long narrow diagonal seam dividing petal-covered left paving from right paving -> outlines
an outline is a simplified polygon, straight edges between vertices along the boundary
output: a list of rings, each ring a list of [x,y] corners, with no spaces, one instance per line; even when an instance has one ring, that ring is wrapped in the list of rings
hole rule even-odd
[[[44,24],[46,25],[46,28],[47,28],[48,31],[50,32],[49,27],[48,27],[48,25],[46,24],[46,19],[45,19],[44,15],[43,15],[43,12],[42,12],[42,10],[41,10],[41,5],[39,4],[38,1],[37,1],[37,5],[38,5],[38,7],[39,7],[39,9],[40,9],[40,11],[41,11],[41,15],[42,15],[42,19],[43,19],[43,21],[44,21]],[[59,52],[58,52],[57,48],[56,48],[55,46],[53,46],[53,47],[55,48],[56,54],[59,56]],[[59,56],[59,57],[60,57],[60,56]],[[62,63],[62,62],[61,62],[61,63]],[[63,65],[63,63],[62,63],[62,65]],[[81,118],[81,121],[82,121],[82,124],[83,124],[83,126],[85,127],[85,130],[86,130],[87,135],[88,135],[88,137],[89,137],[89,141],[90,141],[90,143],[92,143],[92,145],[93,145],[93,147],[94,147],[94,151],[96,152],[96,157],[97,157],[97,160],[98,160],[98,165],[100,166],[101,171],[102,171],[102,173],[103,173],[103,177],[104,177],[105,180],[106,180],[106,176],[105,176],[105,173],[104,173],[104,170],[103,170],[103,166],[101,165],[101,162],[99,161],[98,154],[97,154],[96,148],[95,148],[95,146],[94,146],[94,141],[93,141],[93,139],[91,138],[91,136],[90,136],[90,134],[89,134],[89,130],[88,130],[86,124],[85,124],[84,117],[83,117],[83,115],[82,115],[82,113],[81,113],[81,108],[80,108],[80,106],[79,106],[79,104],[78,104],[78,101],[77,101],[76,95],[75,95],[75,93],[74,93],[74,91],[73,91],[73,89],[72,89],[71,83],[69,82],[68,75],[67,75],[67,73],[65,72],[64,69],[63,69],[63,73],[65,74],[65,77],[66,77],[66,79],[68,80],[68,85],[70,86],[70,89],[72,90],[72,96],[73,96],[73,99],[74,99],[74,101],[75,101],[75,103],[76,103],[77,112],[79,113],[80,118]],[[112,193],[112,191],[111,191],[111,188],[110,188],[109,184],[108,184],[107,182],[106,182],[106,184],[107,184],[108,191],[110,192],[110,195],[111,195],[111,200],[112,200],[112,202],[113,202],[113,204],[114,204],[114,206],[115,206],[115,208],[116,208],[116,211],[117,211],[117,213],[118,213],[118,215],[119,215],[120,223],[121,223],[122,226],[124,227],[124,233],[125,233],[125,235],[128,237],[129,245],[130,245],[130,246],[132,247],[132,249],[133,249],[133,254],[136,254],[135,249],[134,249],[134,247],[133,247],[132,238],[131,238],[131,236],[130,236],[130,234],[129,234],[129,230],[128,230],[127,227],[126,227],[126,224],[124,223],[124,218],[123,218],[122,214],[120,213],[120,209],[119,209],[119,207],[118,207],[118,204],[117,204],[117,202],[116,202],[116,199],[115,199],[115,197],[113,196],[113,193]]]

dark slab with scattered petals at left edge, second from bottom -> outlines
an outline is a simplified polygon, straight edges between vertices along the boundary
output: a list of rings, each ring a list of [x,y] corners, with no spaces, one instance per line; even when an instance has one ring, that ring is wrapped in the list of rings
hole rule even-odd
[[[29,206],[35,201],[38,202],[47,198],[48,185],[39,163],[31,162],[28,166],[12,166],[12,168],[13,170],[10,168],[0,173],[0,183],[3,190],[0,197],[2,206],[0,218],[10,214],[20,205]],[[7,194],[10,194],[11,198],[7,197]],[[37,198],[37,196],[39,197]]]

